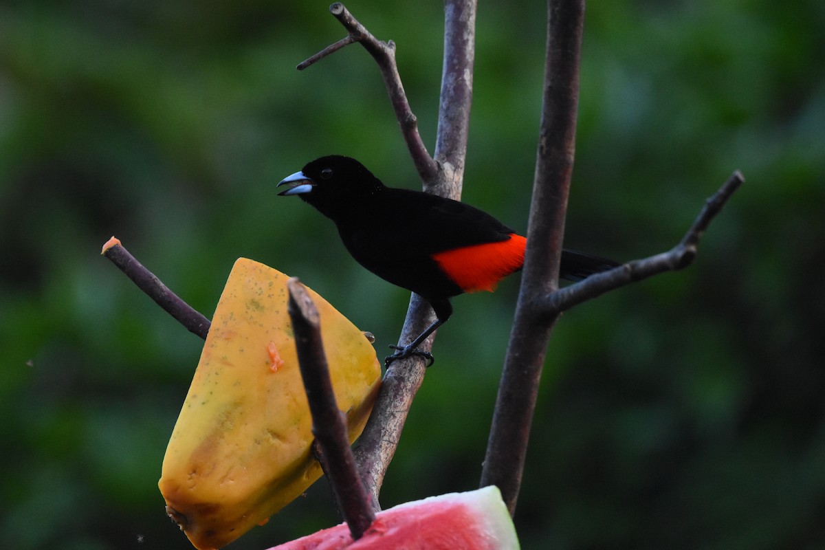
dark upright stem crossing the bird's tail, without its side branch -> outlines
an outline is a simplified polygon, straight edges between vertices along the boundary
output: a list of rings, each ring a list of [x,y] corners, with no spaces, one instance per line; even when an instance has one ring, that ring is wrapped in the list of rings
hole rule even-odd
[[[481,485],[497,485],[516,508],[544,355],[558,316],[540,299],[558,288],[559,259],[576,138],[583,0],[549,0],[544,100],[527,250]]]

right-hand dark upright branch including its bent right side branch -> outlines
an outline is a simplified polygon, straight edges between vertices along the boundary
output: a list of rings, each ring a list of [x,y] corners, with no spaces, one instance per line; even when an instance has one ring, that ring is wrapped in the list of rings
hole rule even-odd
[[[521,487],[544,357],[559,315],[622,285],[688,266],[702,233],[744,181],[734,172],[671,251],[631,261],[559,290],[560,251],[575,151],[583,22],[584,0],[549,0],[544,101],[525,266],[481,477],[482,486],[496,485],[502,491],[511,513]]]

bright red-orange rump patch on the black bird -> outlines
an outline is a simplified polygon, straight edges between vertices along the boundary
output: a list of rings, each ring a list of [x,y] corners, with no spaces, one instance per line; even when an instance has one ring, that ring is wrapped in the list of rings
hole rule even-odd
[[[464,292],[496,289],[504,279],[524,265],[527,239],[511,233],[506,241],[485,242],[432,255],[441,270]]]

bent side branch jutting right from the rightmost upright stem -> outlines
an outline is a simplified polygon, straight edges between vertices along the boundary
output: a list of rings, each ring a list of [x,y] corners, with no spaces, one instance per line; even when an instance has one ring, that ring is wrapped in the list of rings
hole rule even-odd
[[[542,314],[548,317],[558,316],[559,313],[573,306],[594,299],[601,294],[618,289],[625,284],[634,283],[658,275],[666,271],[681,270],[690,266],[696,256],[696,247],[705,229],[717,214],[722,210],[733,192],[744,183],[741,172],[733,172],[713,196],[705,201],[705,206],[691,225],[681,242],[667,252],[650,256],[642,260],[630,261],[624,266],[616,267],[604,273],[591,275],[579,283],[571,284],[567,288],[559,289],[542,299],[540,308]]]

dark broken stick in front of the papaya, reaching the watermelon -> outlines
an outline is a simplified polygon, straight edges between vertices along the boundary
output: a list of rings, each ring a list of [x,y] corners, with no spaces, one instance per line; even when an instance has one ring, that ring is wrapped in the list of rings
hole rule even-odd
[[[322,449],[327,474],[338,506],[347,521],[352,538],[361,538],[375,521],[361,477],[358,475],[347,437],[347,417],[338,409],[327,356],[323,352],[318,310],[296,277],[287,282],[290,290],[288,311],[295,331],[295,348],[304,389],[312,413],[312,431]]]

